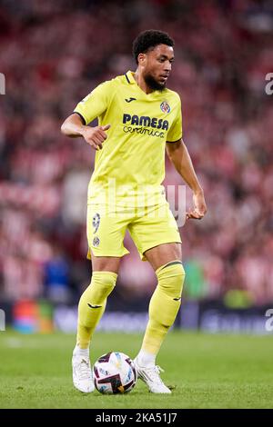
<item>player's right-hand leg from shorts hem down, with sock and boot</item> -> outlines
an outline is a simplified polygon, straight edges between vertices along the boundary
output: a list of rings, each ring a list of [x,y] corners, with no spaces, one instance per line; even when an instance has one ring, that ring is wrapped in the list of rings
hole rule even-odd
[[[156,357],[181,303],[185,272],[180,246],[180,243],[160,244],[145,253],[155,269],[158,283],[149,303],[149,320],[141,350],[136,356],[136,370],[151,392],[170,392],[159,376]]]

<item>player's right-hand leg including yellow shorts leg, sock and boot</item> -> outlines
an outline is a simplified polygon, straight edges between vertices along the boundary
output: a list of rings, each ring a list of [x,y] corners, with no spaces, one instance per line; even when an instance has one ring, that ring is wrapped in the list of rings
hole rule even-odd
[[[158,217],[157,211],[161,212]],[[142,347],[135,359],[136,370],[151,392],[169,393],[170,390],[160,379],[156,357],[180,307],[185,277],[181,239],[168,205],[165,214],[164,211],[162,214],[159,206],[151,207],[148,215],[131,226],[130,233],[142,259],[146,259],[154,268],[158,281],[149,303],[149,320]]]

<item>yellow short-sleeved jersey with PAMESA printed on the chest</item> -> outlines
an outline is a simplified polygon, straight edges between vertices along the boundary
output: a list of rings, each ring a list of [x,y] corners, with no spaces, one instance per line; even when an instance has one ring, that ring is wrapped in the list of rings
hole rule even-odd
[[[103,149],[96,152],[88,186],[88,203],[156,204],[164,194],[166,142],[182,137],[179,95],[167,88],[146,94],[134,73],[99,84],[79,104],[75,113],[86,124],[96,117],[111,124]],[[142,202],[141,202],[142,200]]]

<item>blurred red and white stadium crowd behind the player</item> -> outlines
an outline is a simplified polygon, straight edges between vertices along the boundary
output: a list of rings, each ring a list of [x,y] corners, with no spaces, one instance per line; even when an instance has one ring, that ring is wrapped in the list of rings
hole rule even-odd
[[[0,2],[0,291],[7,300],[76,300],[89,283],[86,187],[94,152],[60,125],[96,84],[135,70],[145,29],[176,41],[168,86],[207,217],[182,227],[187,298],[273,302],[273,5],[270,1]],[[271,69],[270,69],[271,66]],[[165,184],[183,184],[167,161]],[[191,194],[187,191],[187,204]],[[147,297],[156,277],[133,243],[116,292]]]

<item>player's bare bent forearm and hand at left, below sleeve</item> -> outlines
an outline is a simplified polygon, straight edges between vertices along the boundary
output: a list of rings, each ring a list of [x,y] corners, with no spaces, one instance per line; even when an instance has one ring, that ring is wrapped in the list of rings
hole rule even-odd
[[[106,141],[106,131],[110,128],[110,124],[106,126],[86,126],[79,114],[73,113],[69,115],[62,124],[62,134],[76,138],[82,136],[86,143],[91,145],[95,150],[100,150],[103,147],[103,142]]]

